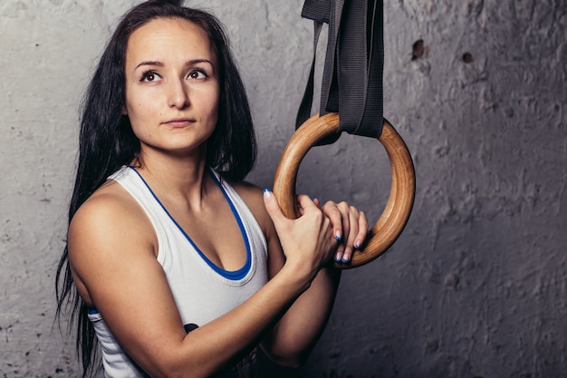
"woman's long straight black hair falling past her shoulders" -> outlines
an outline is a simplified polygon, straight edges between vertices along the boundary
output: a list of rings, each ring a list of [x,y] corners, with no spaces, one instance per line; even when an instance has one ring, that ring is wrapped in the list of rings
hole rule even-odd
[[[69,208],[69,222],[82,203],[120,166],[139,154],[139,140],[125,107],[124,63],[130,34],[157,18],[183,18],[200,26],[216,48],[220,73],[220,100],[216,129],[207,141],[207,165],[225,179],[244,179],[256,156],[255,133],[244,83],[238,73],[222,24],[214,15],[182,6],[182,0],[150,0],[123,16],[101,56],[82,102],[77,175]],[[77,350],[82,376],[100,368],[97,340],[89,321],[88,308],[73,285],[65,246],[57,267],[55,292],[57,319],[71,316],[69,326],[77,326]]]

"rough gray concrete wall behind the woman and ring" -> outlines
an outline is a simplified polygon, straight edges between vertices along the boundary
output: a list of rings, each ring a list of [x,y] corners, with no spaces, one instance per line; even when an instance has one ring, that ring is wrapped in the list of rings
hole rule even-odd
[[[77,109],[134,3],[0,4],[0,376],[76,375],[72,337],[53,329],[53,276]],[[250,179],[271,187],[312,24],[300,0],[189,3],[227,25],[261,146]],[[386,3],[384,107],[415,161],[414,211],[385,256],[345,272],[321,342],[292,376],[565,376],[566,2]],[[389,168],[377,141],[344,136],[312,150],[299,180],[298,191],[350,199],[374,221]]]

